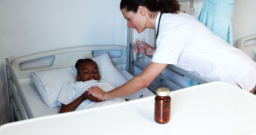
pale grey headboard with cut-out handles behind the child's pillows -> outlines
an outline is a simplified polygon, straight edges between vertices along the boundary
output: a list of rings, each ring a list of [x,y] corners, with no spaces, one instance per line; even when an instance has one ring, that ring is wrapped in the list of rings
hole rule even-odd
[[[126,69],[126,46],[117,45],[93,45],[51,50],[16,58],[11,64],[20,81],[31,78],[32,71],[74,66],[78,59],[93,58],[105,52],[108,52],[113,65],[118,70]]]

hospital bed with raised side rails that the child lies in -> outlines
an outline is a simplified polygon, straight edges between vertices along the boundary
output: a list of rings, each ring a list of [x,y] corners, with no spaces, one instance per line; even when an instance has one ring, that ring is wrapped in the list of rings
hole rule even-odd
[[[130,29],[128,29],[128,35],[130,33]],[[127,49],[128,48],[128,49]],[[59,50],[52,50],[48,52],[41,52],[38,54],[32,54],[29,56],[24,56],[20,58],[16,58],[12,62],[8,58],[6,58],[6,75],[7,75],[7,85],[8,85],[8,96],[9,96],[9,104],[10,104],[10,114],[11,121],[20,121],[24,119],[30,119],[34,117],[41,117],[46,115],[53,115],[58,113],[60,107],[50,107],[51,105],[46,102],[50,99],[45,98],[45,91],[42,92],[38,87],[44,86],[51,87],[50,85],[44,84],[42,78],[33,78],[34,76],[38,76],[36,72],[45,72],[52,70],[59,70],[65,68],[72,68],[76,61],[81,58],[96,58],[96,60],[100,61],[97,64],[104,65],[102,66],[103,72],[110,72],[113,70],[113,73],[109,76],[108,79],[112,79],[110,83],[114,84],[116,87],[120,86],[122,83],[125,83],[127,80],[131,79],[133,75],[130,73],[130,69],[132,66],[135,66],[141,70],[144,70],[146,67],[142,63],[138,63],[134,61],[132,57],[132,53],[134,53],[134,45],[130,43],[130,36],[128,36],[127,46],[117,46],[117,45],[98,45],[98,46],[82,46],[82,47],[74,47],[74,48],[63,48]],[[108,53],[108,54],[106,54]],[[106,58],[100,58],[102,56],[107,56],[109,60],[105,60]],[[151,56],[147,56],[152,58]],[[101,63],[103,61],[103,63]],[[107,61],[110,61],[106,64]],[[111,63],[111,64],[110,64]],[[105,67],[109,65],[110,67]],[[111,67],[114,67],[112,68]],[[74,67],[73,67],[74,68]],[[100,68],[100,66],[99,66]],[[100,68],[101,69],[101,68]],[[111,71],[110,71],[111,69]],[[116,71],[114,71],[116,70]],[[189,77],[199,84],[207,83],[208,81],[192,72],[185,71],[173,65],[168,65],[164,70],[166,72],[171,71],[176,73],[177,75],[183,77]],[[101,72],[101,70],[100,70]],[[49,74],[50,73],[50,74]],[[52,72],[48,72],[48,74],[44,75],[46,78],[48,75],[48,79],[46,81],[54,78],[53,75],[51,77]],[[62,73],[65,74],[66,72]],[[36,74],[36,75],[35,75]],[[101,74],[102,77],[102,74]],[[59,80],[65,79],[66,77],[62,77]],[[114,78],[114,80],[113,80]],[[171,89],[181,89],[179,85],[173,83],[172,81],[166,79],[163,75],[159,75],[158,80],[163,79],[161,81],[164,85],[170,87]],[[53,81],[56,81],[55,79]],[[109,81],[109,80],[108,80]],[[48,82],[49,83],[49,82]],[[50,84],[54,82],[50,82]],[[160,82],[158,82],[160,83]],[[36,84],[36,85],[35,85]],[[63,84],[63,83],[62,83]],[[127,99],[134,100],[141,97],[147,97],[155,95],[156,85],[150,85],[148,88],[144,88],[132,95],[129,95]],[[40,92],[41,91],[41,92]],[[50,95],[49,93],[46,93]],[[50,107],[50,108],[49,108]]]

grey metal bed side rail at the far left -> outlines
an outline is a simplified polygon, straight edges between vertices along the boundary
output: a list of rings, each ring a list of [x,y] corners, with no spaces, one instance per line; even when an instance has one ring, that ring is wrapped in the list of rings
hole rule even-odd
[[[6,75],[12,121],[14,121],[14,115],[17,120],[33,118],[34,115],[8,58],[6,58]]]

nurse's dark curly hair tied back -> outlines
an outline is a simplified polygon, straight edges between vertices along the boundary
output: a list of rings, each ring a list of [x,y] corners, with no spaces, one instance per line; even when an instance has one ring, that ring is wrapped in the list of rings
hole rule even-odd
[[[173,14],[180,12],[178,0],[121,0],[120,2],[120,10],[125,9],[126,12],[136,13],[138,6],[145,6],[151,12],[160,11]]]

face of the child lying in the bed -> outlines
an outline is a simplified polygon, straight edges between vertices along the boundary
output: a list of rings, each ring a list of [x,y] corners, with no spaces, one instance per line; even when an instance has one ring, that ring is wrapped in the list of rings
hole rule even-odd
[[[94,62],[83,62],[78,70],[79,74],[76,76],[78,81],[100,80],[100,72]]]

